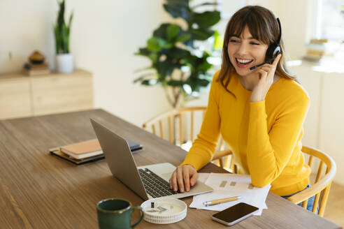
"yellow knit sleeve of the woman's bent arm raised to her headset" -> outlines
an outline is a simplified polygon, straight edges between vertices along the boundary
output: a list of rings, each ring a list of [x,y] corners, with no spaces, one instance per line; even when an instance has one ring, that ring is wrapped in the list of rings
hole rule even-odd
[[[287,165],[296,146],[309,98],[293,94],[280,104],[280,112],[271,130],[267,129],[265,101],[250,103],[248,127],[248,169],[254,186],[266,186],[276,179]]]

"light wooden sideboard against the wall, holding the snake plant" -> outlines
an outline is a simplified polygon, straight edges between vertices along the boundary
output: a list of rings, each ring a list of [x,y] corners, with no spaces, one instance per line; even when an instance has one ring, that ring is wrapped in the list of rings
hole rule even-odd
[[[0,119],[93,108],[92,73],[0,74]]]

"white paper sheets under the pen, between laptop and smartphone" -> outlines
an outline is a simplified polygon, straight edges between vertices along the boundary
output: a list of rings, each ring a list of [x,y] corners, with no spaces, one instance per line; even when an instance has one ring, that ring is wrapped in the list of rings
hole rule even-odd
[[[208,177],[208,178],[206,178]],[[268,207],[265,204],[266,196],[271,185],[268,184],[263,188],[252,186],[251,177],[249,175],[236,175],[226,173],[210,173],[210,175],[200,174],[199,180],[214,189],[211,193],[194,195],[194,199],[189,207],[196,209],[206,209],[212,211],[222,211],[228,207],[236,205],[238,202],[245,202],[259,208],[259,212],[255,215],[261,215],[263,209]],[[231,196],[241,196],[241,199],[224,202],[219,205],[204,206],[203,202],[209,200],[218,200],[229,198]]]

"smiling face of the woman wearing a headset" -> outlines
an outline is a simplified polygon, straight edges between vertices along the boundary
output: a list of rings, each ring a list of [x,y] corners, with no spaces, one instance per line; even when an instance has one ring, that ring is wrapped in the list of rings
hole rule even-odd
[[[248,27],[245,27],[240,38],[229,38],[227,52],[236,73],[245,76],[252,73],[250,67],[264,62],[267,49],[268,45],[252,38]]]

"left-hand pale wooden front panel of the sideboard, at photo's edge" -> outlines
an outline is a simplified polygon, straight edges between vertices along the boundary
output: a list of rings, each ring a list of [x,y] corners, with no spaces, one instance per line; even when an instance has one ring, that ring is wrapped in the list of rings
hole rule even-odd
[[[30,84],[27,80],[1,80],[0,119],[31,116]]]

